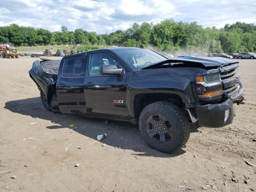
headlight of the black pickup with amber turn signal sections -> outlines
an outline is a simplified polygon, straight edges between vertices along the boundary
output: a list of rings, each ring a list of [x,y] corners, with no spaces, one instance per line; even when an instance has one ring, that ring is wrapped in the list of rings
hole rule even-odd
[[[198,98],[211,98],[223,94],[220,73],[196,77]]]

